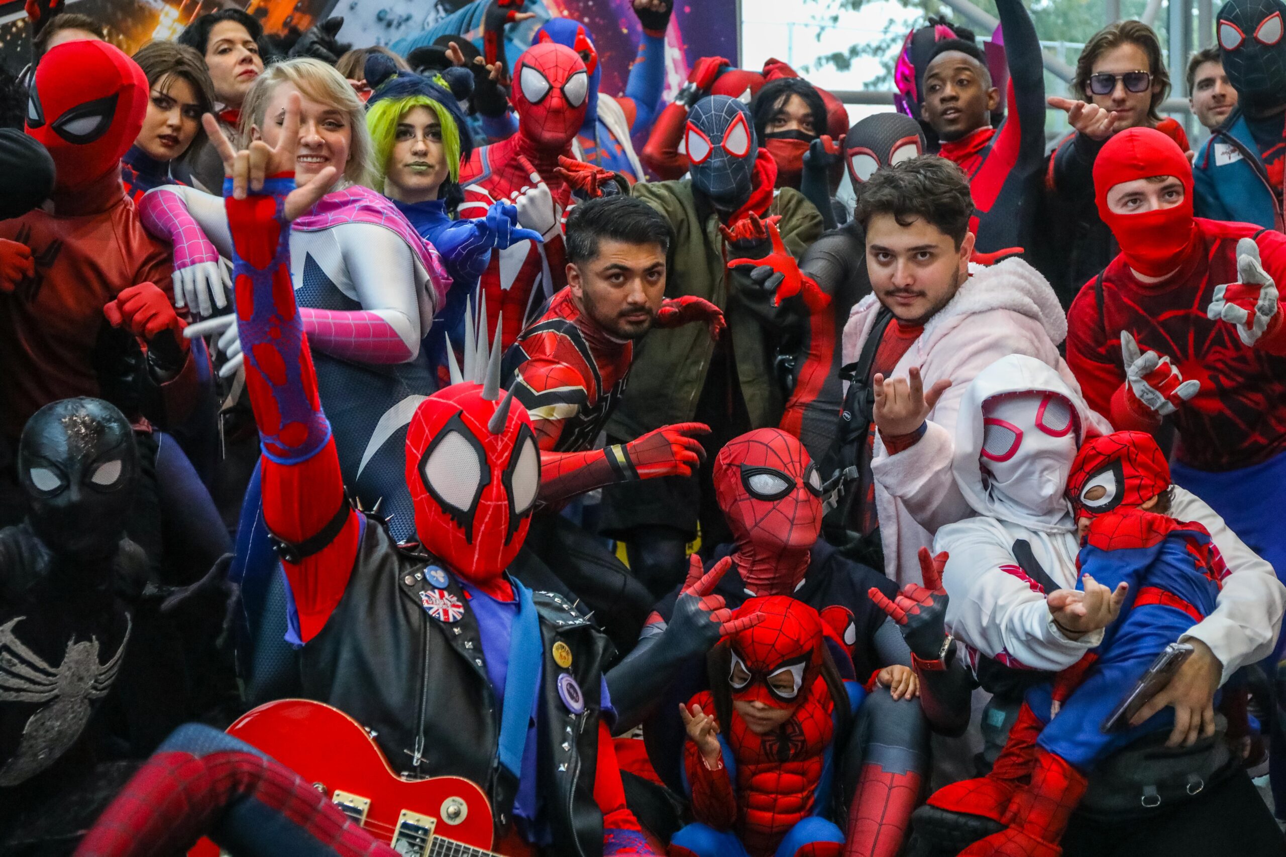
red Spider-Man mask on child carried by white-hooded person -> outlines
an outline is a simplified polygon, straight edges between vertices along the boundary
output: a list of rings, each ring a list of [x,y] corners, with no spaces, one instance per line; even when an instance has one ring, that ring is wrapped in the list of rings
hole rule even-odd
[[[1076,518],[1141,506],[1170,487],[1170,465],[1151,434],[1116,432],[1091,438],[1071,464],[1067,497]]]

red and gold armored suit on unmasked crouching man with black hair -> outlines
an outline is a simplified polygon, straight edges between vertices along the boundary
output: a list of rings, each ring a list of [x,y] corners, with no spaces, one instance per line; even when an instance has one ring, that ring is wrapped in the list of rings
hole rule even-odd
[[[712,335],[723,314],[696,297],[667,298],[656,326],[706,321]],[[557,505],[613,482],[688,474],[701,455],[697,439],[667,425],[630,443],[593,448],[629,380],[634,343],[607,334],[576,306],[571,289],[504,356],[503,378],[531,416],[540,446],[540,501]],[[703,428],[703,427],[701,427]]]

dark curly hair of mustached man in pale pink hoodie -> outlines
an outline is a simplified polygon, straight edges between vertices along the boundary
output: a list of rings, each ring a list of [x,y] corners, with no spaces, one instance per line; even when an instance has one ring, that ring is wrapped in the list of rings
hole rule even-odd
[[[950,235],[959,249],[974,216],[968,179],[954,163],[934,154],[881,167],[862,185],[854,220],[865,229],[876,215],[892,215],[901,226],[923,218]]]

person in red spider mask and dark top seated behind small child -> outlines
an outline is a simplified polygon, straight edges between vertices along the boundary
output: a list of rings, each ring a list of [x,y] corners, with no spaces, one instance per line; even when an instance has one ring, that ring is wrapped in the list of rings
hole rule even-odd
[[[714,481],[734,536],[732,545],[714,551],[711,568],[721,577],[712,591],[698,592],[700,574],[689,576],[682,590],[657,605],[635,650],[612,669],[612,699],[624,722],[648,717],[658,699],[669,698],[667,686],[684,699],[705,686],[703,672],[693,671],[691,662],[718,640],[711,612],[736,609],[747,597],[791,595],[818,610],[832,632],[837,663],[851,663],[860,681],[889,664],[912,664],[903,630],[868,595],[874,588],[894,599],[896,586],[818,538],[822,482],[797,438],[781,429],[734,438],[719,452]],[[945,640],[940,612],[936,640],[935,653]],[[847,853],[898,852],[927,771],[925,712],[934,713],[939,729],[955,731],[957,725],[939,714],[968,711],[968,687],[957,681],[959,671],[928,664],[916,672],[923,708],[919,700],[873,693],[855,709],[842,770],[850,804]],[[673,777],[673,747],[682,740],[682,726],[664,704],[656,712],[644,738],[657,772]]]

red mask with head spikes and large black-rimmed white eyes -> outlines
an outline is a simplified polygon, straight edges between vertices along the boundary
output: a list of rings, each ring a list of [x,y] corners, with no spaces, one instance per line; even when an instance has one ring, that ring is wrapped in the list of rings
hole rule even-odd
[[[480,583],[504,573],[522,547],[540,487],[531,418],[496,388],[445,387],[421,402],[406,429],[415,532],[451,570]]]

